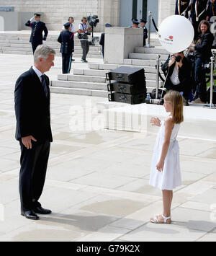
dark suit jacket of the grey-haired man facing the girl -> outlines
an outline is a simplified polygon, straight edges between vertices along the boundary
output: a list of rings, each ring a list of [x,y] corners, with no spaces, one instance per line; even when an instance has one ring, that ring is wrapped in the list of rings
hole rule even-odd
[[[14,100],[17,119],[16,139],[33,136],[37,143],[53,141],[50,127],[49,78],[45,76],[48,98],[42,83],[31,68],[17,79]]]

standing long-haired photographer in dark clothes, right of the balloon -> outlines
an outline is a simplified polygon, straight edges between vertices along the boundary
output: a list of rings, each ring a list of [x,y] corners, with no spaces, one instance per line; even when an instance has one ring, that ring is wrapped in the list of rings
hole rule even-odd
[[[198,32],[201,34],[197,44],[191,45],[195,56],[195,81],[197,84],[193,103],[204,104],[207,102],[207,87],[203,66],[210,62],[214,36],[210,32],[210,24],[206,20],[200,22]]]

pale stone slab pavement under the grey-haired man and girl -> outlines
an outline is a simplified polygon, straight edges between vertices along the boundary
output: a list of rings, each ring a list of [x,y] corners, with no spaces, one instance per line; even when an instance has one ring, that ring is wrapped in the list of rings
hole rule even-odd
[[[51,79],[60,63],[57,57]],[[156,134],[95,131],[96,104],[104,101],[96,97],[52,94],[54,142],[40,202],[53,214],[20,216],[14,82],[31,64],[32,56],[0,55],[0,241],[216,240],[216,141],[179,138],[183,184],[174,191],[174,222],[150,224],[162,211],[161,191],[148,185]],[[79,59],[73,66],[87,68]]]

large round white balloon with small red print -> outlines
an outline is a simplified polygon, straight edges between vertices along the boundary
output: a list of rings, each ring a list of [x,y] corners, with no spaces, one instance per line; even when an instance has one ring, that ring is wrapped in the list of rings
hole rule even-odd
[[[158,34],[163,48],[170,53],[179,53],[191,45],[194,39],[194,27],[189,19],[173,15],[163,20]]]

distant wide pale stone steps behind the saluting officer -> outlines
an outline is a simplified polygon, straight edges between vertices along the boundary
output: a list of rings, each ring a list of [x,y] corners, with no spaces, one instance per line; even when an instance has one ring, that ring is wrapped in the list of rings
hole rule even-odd
[[[60,43],[57,41],[58,34],[48,35],[46,44],[50,45],[56,50],[56,55],[60,56]],[[73,57],[81,57],[82,49],[80,41],[77,36],[75,36],[75,51]],[[100,52],[100,46],[90,46],[89,58],[102,58],[102,53]],[[32,45],[30,43],[30,32],[26,34],[21,33],[0,33],[0,53],[9,54],[22,54],[22,55],[32,55]]]

